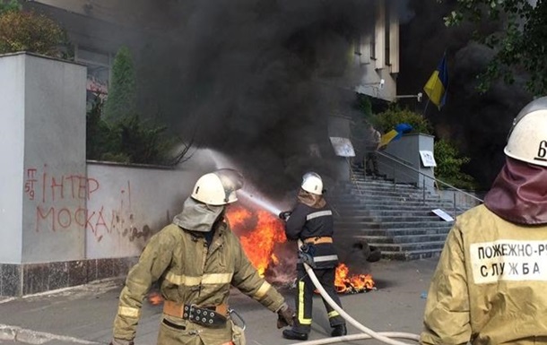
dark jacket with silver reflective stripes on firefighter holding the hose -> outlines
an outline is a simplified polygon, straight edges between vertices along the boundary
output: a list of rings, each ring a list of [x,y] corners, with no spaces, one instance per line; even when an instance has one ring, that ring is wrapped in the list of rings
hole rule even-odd
[[[332,237],[334,233],[333,211],[325,203],[323,207],[314,208],[304,203],[297,203],[291,217],[285,224],[285,234],[289,239]],[[314,245],[312,256],[317,268],[332,268],[338,264],[336,249],[332,243]]]

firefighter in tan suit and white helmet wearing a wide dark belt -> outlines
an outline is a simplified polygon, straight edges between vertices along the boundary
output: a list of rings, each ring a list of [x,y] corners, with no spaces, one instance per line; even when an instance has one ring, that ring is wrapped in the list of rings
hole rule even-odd
[[[294,312],[258,275],[224,217],[241,186],[242,177],[232,169],[197,180],[182,212],[151,237],[128,273],[112,345],[133,344],[143,298],[155,281],[164,298],[160,345],[244,344],[242,329],[230,318],[230,285],[277,313],[278,328],[292,323]]]

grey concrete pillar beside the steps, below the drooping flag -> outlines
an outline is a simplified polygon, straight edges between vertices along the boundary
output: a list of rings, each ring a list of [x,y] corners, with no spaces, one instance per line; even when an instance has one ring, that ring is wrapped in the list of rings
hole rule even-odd
[[[433,168],[424,167],[420,151],[433,152],[433,136],[428,134],[404,134],[400,140],[390,142],[384,152],[400,159],[403,164],[395,163],[379,155],[378,168],[388,178],[395,178],[397,183],[410,183],[435,190]],[[417,171],[416,171],[417,170]]]

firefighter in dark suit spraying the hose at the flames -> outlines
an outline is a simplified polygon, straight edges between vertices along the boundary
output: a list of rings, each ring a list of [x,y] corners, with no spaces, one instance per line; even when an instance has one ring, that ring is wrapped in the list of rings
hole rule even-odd
[[[333,244],[333,211],[323,197],[323,181],[314,172],[302,178],[298,194],[298,203],[292,211],[284,211],[280,218],[286,220],[285,234],[289,240],[300,239],[300,259],[297,263],[296,319],[289,330],[282,332],[286,339],[306,341],[311,330],[312,302],[315,286],[304,268],[304,262],[313,267],[317,280],[326,289],[328,295],[338,306],[342,306],[334,287],[338,255]],[[343,317],[330,306],[325,299],[328,320],[333,328],[331,335],[346,335]]]

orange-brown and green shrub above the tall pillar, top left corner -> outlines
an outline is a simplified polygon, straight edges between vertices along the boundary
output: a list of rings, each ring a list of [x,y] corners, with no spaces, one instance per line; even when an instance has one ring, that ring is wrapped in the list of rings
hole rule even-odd
[[[64,30],[43,14],[19,11],[6,4],[0,13],[0,54],[29,51],[60,56]]]

